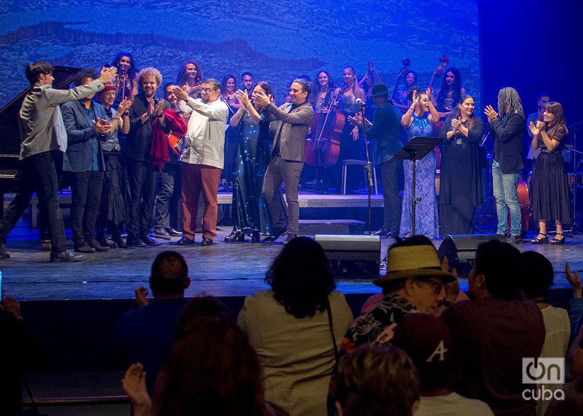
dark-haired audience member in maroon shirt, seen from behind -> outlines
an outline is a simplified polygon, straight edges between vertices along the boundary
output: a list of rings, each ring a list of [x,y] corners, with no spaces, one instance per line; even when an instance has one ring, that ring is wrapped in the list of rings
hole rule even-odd
[[[480,244],[470,272],[473,300],[441,314],[462,357],[463,396],[486,401],[497,415],[535,415],[522,392],[522,358],[540,357],[545,324],[535,304],[516,300],[523,273],[517,248],[498,240]]]

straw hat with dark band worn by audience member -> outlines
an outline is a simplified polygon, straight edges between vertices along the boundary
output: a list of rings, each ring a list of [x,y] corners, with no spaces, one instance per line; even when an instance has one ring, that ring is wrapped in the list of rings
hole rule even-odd
[[[441,271],[441,263],[433,246],[401,246],[391,248],[387,257],[387,274],[373,280],[377,286],[392,280],[413,276],[440,278],[442,283],[455,280],[454,276]]]

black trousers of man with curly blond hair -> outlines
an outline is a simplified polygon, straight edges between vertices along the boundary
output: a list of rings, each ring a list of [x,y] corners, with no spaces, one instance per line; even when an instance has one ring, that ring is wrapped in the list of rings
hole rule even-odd
[[[127,158],[129,183],[128,239],[146,235],[152,227],[152,209],[156,198],[156,187],[160,169],[150,162]]]

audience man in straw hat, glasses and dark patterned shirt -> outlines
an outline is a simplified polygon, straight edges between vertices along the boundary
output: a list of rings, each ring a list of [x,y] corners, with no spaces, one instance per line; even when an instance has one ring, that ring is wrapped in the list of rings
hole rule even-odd
[[[388,251],[387,274],[374,280],[384,297],[354,320],[342,341],[342,353],[364,343],[388,342],[395,324],[408,314],[437,315],[444,301],[442,286],[455,281],[455,273],[442,271],[437,251],[427,237],[413,236],[393,244]],[[451,301],[456,296],[455,290],[447,295]]]

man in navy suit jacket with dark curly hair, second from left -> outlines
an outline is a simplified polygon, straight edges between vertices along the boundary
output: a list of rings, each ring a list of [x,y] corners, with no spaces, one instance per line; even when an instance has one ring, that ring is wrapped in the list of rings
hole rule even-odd
[[[96,77],[93,69],[81,70],[75,76],[75,86],[89,84]],[[111,124],[107,122],[103,105],[93,102],[93,95],[66,102],[61,107],[67,131],[63,171],[68,172],[71,183],[71,223],[78,253],[110,249],[95,240],[94,228],[106,166],[101,142],[111,137]]]

